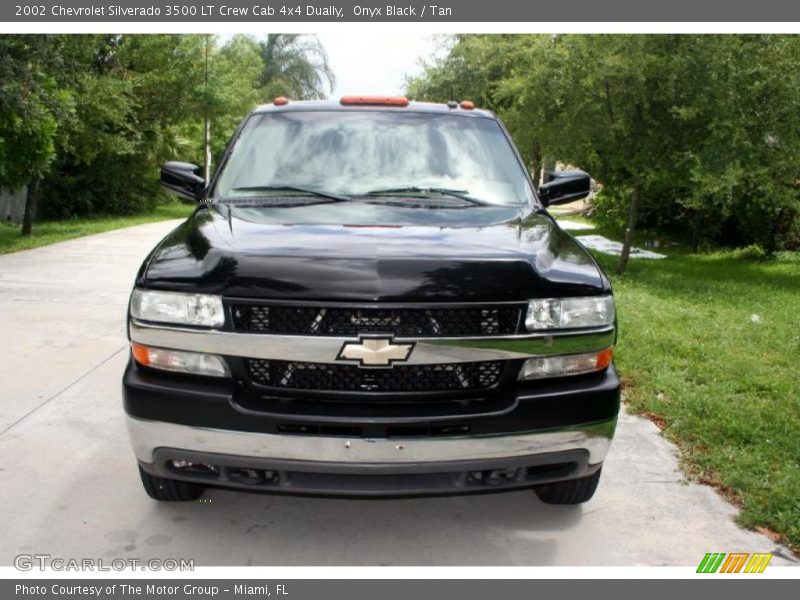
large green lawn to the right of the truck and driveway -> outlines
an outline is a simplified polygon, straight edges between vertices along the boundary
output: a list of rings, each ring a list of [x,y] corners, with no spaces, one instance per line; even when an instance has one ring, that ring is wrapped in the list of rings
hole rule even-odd
[[[690,477],[741,506],[744,526],[797,551],[800,254],[668,253],[612,275],[626,401],[678,444]],[[596,256],[613,274],[617,258]]]

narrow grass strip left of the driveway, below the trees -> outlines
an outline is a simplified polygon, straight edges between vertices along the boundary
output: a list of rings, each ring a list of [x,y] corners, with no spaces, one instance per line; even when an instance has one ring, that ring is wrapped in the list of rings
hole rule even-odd
[[[84,235],[102,233],[112,229],[141,225],[166,219],[182,219],[194,210],[194,204],[169,202],[159,204],[154,210],[126,217],[91,217],[68,219],[64,221],[43,221],[34,223],[33,233],[23,237],[20,226],[0,223],[0,254],[47,246]]]

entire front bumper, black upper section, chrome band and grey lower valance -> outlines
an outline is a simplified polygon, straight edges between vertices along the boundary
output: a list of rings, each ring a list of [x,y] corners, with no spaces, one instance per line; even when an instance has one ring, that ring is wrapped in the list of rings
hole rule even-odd
[[[133,363],[123,379],[142,469],[210,487],[346,496],[470,493],[577,479],[600,468],[619,410],[613,366],[515,383],[497,395],[265,399],[232,379]]]

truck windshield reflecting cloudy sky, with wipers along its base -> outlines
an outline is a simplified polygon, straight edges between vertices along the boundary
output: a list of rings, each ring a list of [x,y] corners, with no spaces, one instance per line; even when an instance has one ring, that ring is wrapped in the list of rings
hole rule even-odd
[[[245,200],[314,191],[456,202],[469,197],[492,205],[532,199],[525,172],[494,119],[388,111],[256,114],[214,196]]]

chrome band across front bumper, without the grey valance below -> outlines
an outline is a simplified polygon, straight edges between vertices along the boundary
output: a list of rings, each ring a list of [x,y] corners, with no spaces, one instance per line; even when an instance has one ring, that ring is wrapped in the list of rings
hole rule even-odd
[[[585,449],[589,463],[605,458],[617,419],[544,431],[453,438],[345,438],[280,435],[177,425],[127,417],[136,458],[153,462],[156,448],[240,457],[344,464],[398,464],[531,456]]]

